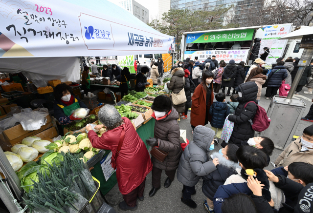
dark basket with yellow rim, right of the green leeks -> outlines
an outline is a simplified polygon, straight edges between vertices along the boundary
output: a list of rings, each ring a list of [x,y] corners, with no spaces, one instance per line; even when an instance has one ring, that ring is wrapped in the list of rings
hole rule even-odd
[[[104,203],[104,199],[100,193],[100,182],[96,178],[92,177],[94,180],[94,183],[96,184],[96,192],[93,194],[93,196],[88,200],[88,202],[85,204],[85,206],[79,211],[79,213],[97,213],[98,210],[101,208],[101,206]]]

